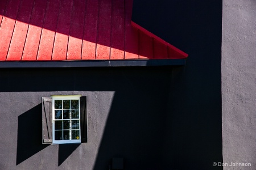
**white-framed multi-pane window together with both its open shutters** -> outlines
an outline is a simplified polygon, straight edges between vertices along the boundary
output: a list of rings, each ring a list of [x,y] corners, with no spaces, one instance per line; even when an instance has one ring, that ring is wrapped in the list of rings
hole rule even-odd
[[[87,142],[86,96],[42,97],[43,144]]]

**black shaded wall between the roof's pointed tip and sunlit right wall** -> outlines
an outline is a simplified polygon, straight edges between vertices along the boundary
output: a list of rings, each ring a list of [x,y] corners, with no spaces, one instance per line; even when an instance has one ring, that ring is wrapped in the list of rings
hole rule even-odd
[[[222,169],[222,1],[134,1],[133,21],[188,53],[170,87],[164,164]],[[182,70],[182,71],[180,71]]]

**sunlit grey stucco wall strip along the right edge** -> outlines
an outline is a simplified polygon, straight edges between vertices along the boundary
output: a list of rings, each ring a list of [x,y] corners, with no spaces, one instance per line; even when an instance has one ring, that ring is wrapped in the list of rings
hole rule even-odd
[[[222,20],[223,163],[256,169],[256,1],[224,0]]]

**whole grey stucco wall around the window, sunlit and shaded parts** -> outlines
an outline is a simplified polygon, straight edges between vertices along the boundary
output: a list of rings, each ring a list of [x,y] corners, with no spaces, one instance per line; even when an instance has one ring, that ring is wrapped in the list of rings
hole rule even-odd
[[[0,169],[164,169],[172,67],[1,69]],[[88,143],[42,145],[42,96],[88,97]]]

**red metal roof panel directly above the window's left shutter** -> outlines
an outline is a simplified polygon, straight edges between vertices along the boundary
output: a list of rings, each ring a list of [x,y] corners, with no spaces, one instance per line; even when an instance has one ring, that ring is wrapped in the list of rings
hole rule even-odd
[[[52,59],[52,49],[57,26],[57,18],[59,15],[59,7],[60,0],[51,0],[47,3],[42,35],[38,49],[38,60]]]

